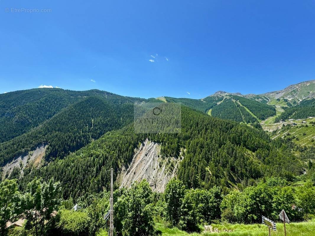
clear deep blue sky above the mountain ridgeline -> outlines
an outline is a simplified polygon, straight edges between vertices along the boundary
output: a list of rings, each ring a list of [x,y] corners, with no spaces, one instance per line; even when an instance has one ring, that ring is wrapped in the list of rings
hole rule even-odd
[[[203,98],[315,79],[314,0],[1,0],[0,22],[0,93]]]

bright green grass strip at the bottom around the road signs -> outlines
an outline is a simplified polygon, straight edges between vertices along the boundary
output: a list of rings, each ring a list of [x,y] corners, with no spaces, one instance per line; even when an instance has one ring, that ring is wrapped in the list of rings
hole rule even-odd
[[[277,223],[277,231],[271,230],[271,235],[284,235],[283,223]],[[157,229],[162,232],[162,236],[266,236],[268,235],[268,227],[262,224],[212,224],[213,228],[217,228],[219,233],[186,233],[178,228],[167,228],[165,224],[158,223]],[[232,231],[232,232],[226,232]],[[286,232],[288,236],[314,236],[315,235],[315,219],[308,222],[299,222],[286,224]]]

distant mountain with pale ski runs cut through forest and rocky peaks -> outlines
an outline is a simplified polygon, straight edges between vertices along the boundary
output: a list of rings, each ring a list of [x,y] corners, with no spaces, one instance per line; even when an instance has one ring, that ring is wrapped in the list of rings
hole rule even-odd
[[[278,122],[281,119],[289,118],[293,113],[296,114],[290,118],[301,119],[307,116],[315,116],[312,105],[312,98],[315,96],[314,91],[315,80],[312,80],[290,85],[283,90],[257,95],[218,91],[203,99],[171,97],[160,97],[158,99],[163,102],[180,102],[222,119],[258,123],[268,117],[273,117],[273,120]],[[279,113],[276,113],[277,108],[286,110],[288,107],[292,107],[292,109],[289,109],[281,117]]]

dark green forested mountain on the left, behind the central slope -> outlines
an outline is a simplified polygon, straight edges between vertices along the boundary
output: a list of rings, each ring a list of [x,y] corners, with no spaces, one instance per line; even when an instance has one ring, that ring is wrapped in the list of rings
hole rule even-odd
[[[99,90],[77,92],[62,89],[33,89],[26,91],[1,94],[4,95],[1,100],[3,139],[29,130],[0,143],[1,165],[16,155],[34,149],[40,143],[49,143],[46,158],[64,157],[69,152],[80,149],[99,138],[107,131],[130,123],[133,118],[133,103],[146,101],[146,99],[123,97]],[[14,95],[14,93],[17,94]],[[54,99],[55,96],[57,96],[56,99]],[[5,102],[6,99],[9,100],[8,104]],[[27,103],[28,99],[31,102]],[[46,100],[49,102],[46,103]],[[54,109],[49,107],[51,104],[55,105]],[[14,113],[17,106],[20,106],[19,109],[28,107],[31,109],[23,110],[23,115],[20,115],[21,113]],[[60,111],[53,115],[57,110]],[[12,111],[12,117],[7,118],[10,111]],[[27,117],[28,122],[25,126],[22,125],[25,120],[21,117]],[[38,125],[40,121],[42,122]],[[32,126],[36,127],[30,129]],[[17,130],[13,132],[14,135],[7,134],[15,127]]]

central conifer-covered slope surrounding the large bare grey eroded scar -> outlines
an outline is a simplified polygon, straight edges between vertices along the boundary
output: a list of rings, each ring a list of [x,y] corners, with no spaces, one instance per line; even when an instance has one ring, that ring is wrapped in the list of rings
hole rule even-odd
[[[108,189],[106,171],[113,166],[119,173],[131,161],[139,142],[146,138],[161,143],[163,158],[178,156],[185,150],[178,177],[187,187],[228,188],[238,183],[246,185],[262,176],[288,177],[302,171],[290,147],[281,140],[270,140],[261,129],[209,117],[185,106],[181,119],[179,134],[136,134],[132,124],[107,132],[62,160],[33,169],[21,181],[27,183],[34,176],[54,177],[65,183],[65,198],[87,197]],[[75,181],[78,176],[84,177],[80,183]]]

